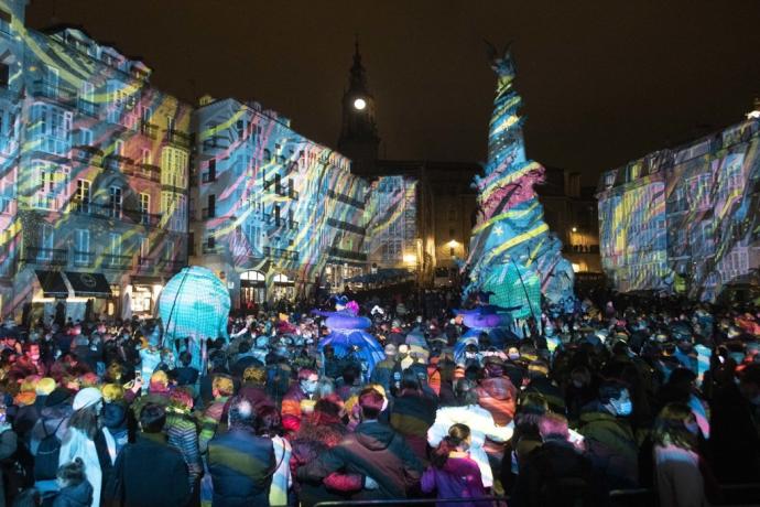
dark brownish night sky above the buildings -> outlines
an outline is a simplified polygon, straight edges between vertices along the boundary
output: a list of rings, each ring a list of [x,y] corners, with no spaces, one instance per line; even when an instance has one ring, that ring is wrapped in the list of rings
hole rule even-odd
[[[513,40],[526,149],[599,171],[738,122],[760,95],[758,0],[32,0],[28,24],[72,23],[141,56],[195,101],[254,98],[334,147],[359,33],[384,154],[482,161],[495,76]]]

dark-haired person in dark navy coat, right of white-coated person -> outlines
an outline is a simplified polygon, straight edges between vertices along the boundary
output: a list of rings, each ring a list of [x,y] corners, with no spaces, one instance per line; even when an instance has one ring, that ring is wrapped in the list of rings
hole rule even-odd
[[[184,507],[191,486],[182,453],[166,444],[163,433],[166,409],[148,403],[140,411],[134,443],[128,444],[116,461],[108,484],[107,499],[115,506]]]

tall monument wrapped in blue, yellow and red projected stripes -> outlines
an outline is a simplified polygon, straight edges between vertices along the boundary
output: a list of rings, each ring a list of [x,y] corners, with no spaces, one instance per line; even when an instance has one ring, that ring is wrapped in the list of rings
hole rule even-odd
[[[541,313],[541,294],[555,306],[574,301],[572,265],[562,257],[562,242],[549,230],[533,185],[543,183],[544,168],[525,159],[521,98],[514,91],[514,65],[509,47],[490,46],[498,76],[488,132],[485,175],[476,176],[478,217],[467,259],[466,293],[491,292],[490,303],[520,306],[512,316]]]

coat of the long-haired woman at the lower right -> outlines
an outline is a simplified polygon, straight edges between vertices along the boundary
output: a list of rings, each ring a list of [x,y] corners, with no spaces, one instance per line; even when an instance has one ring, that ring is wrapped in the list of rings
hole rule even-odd
[[[660,505],[706,507],[705,482],[699,455],[675,445],[654,446],[656,492]]]

